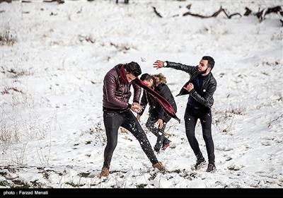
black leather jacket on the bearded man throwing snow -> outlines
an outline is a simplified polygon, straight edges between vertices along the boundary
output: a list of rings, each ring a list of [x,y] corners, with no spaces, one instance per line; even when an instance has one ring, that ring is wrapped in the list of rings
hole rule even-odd
[[[175,63],[175,62],[167,62],[167,66],[165,68],[172,68],[181,71],[185,71],[187,74],[190,74],[190,80],[185,83],[183,87],[186,87],[188,83],[190,83],[197,76],[197,66],[189,66],[185,64]],[[197,102],[202,105],[211,108],[214,104],[213,94],[216,91],[217,82],[212,75],[211,72],[208,74],[209,76],[204,79],[202,83],[202,88],[200,93],[197,93],[193,88],[192,91],[188,92],[185,88],[181,88],[180,93],[178,95],[186,95],[190,94]],[[176,96],[178,96],[176,95]]]

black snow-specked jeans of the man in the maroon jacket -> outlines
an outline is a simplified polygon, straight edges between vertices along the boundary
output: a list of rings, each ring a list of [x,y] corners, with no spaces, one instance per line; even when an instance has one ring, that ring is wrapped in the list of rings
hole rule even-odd
[[[139,141],[142,150],[146,153],[146,156],[153,165],[158,163],[144,129],[141,128],[137,117],[134,116],[131,110],[127,110],[125,112],[103,112],[103,122],[107,137],[107,144],[104,150],[103,167],[108,169],[110,168],[112,154],[117,146],[120,127],[124,127],[134,135],[134,137]]]

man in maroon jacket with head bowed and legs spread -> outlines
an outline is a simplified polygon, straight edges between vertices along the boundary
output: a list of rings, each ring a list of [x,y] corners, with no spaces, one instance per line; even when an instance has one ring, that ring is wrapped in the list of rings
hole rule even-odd
[[[165,171],[163,164],[158,162],[146,133],[133,114],[133,112],[142,110],[141,105],[139,105],[141,87],[134,81],[140,74],[141,68],[137,62],[117,64],[108,71],[103,80],[103,122],[107,144],[104,150],[104,162],[100,177],[109,175],[112,154],[117,146],[120,127],[127,129],[137,138],[154,168],[158,168],[161,172]],[[129,103],[129,98],[132,95],[131,86],[134,89],[132,104]]]

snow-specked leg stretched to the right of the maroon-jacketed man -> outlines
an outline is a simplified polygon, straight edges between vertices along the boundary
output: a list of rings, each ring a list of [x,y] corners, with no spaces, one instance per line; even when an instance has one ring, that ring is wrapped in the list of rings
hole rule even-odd
[[[123,115],[125,116],[125,121],[121,124],[121,127],[124,127],[134,135],[153,165],[158,163],[154,150],[152,150],[151,144],[149,143],[149,139],[147,139],[146,133],[144,129],[142,129],[141,124],[139,124],[137,117],[135,117],[131,111],[127,111]]]

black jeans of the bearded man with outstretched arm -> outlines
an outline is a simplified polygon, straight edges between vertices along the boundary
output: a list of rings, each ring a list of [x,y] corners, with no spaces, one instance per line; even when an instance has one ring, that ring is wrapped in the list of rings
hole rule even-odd
[[[201,159],[203,158],[202,152],[200,151],[199,143],[195,138],[195,126],[197,124],[197,120],[200,119],[200,123],[202,124],[202,136],[207,148],[208,161],[209,163],[214,163],[215,156],[214,142],[212,139],[212,111],[208,108],[196,109],[187,103],[184,119],[185,132],[190,143],[190,147],[192,148],[192,151],[194,151],[197,159]]]

